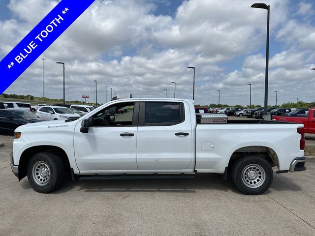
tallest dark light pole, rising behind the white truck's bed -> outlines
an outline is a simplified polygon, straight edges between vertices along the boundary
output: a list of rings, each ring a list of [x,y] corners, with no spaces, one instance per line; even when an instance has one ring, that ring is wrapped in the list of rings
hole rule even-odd
[[[270,16],[270,5],[265,3],[254,3],[253,8],[262,8],[267,10],[267,42],[266,42],[266,71],[265,71],[265,109],[264,116],[267,116],[268,109],[268,69],[269,69],[269,16]]]

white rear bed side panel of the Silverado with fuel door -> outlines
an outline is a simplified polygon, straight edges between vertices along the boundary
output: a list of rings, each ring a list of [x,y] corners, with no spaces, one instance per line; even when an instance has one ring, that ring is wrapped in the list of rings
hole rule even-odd
[[[271,148],[279,159],[279,170],[288,170],[300,150],[301,124],[200,124],[196,127],[198,172],[224,173],[231,155],[239,148]],[[211,149],[213,146],[213,149]]]

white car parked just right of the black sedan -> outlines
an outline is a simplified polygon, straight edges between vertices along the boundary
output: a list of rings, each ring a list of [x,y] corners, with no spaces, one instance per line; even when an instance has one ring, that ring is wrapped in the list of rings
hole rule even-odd
[[[43,119],[55,120],[55,119],[68,119],[68,118],[80,118],[81,116],[75,114],[66,107],[41,107],[36,111],[36,115]]]

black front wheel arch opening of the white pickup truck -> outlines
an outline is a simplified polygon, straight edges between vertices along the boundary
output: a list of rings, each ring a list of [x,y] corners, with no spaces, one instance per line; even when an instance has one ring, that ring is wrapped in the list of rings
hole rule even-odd
[[[64,170],[66,172],[70,171],[69,158],[66,152],[63,150],[63,148],[60,148],[57,146],[49,146],[49,145],[33,146],[31,148],[25,149],[21,154],[20,163],[19,163],[19,180],[27,176],[27,166],[31,157],[34,154],[38,152],[42,152],[42,151],[53,152],[55,154],[58,154],[63,161]]]

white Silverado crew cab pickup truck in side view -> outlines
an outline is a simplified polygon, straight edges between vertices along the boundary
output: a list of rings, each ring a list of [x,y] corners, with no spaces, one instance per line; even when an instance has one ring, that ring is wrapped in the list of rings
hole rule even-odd
[[[218,173],[252,195],[269,188],[274,166],[276,173],[306,170],[303,124],[226,123],[225,115],[200,115],[219,117],[212,124],[197,119],[187,99],[133,98],[111,101],[78,119],[22,125],[15,130],[11,169],[19,180],[28,176],[41,193],[60,187],[68,171],[81,180]]]

